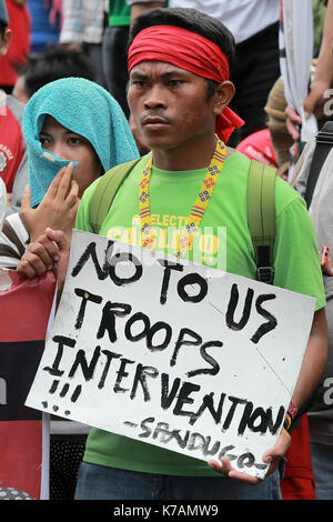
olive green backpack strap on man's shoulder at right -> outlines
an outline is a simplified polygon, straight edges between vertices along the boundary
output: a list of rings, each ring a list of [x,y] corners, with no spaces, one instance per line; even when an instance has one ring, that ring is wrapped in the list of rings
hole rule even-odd
[[[252,238],[258,281],[274,280],[276,169],[251,160],[248,184],[248,224]]]

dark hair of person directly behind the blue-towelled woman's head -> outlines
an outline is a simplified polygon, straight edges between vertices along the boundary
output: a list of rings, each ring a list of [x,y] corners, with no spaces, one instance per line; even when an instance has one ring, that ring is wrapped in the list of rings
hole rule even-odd
[[[46,83],[61,78],[79,77],[93,81],[93,64],[83,51],[59,47],[43,54],[30,54],[19,69],[24,77],[26,92],[31,98]]]

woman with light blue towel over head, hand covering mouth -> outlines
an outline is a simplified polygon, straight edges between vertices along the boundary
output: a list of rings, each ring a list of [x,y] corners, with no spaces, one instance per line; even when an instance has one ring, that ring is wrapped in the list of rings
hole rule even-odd
[[[71,231],[80,198],[92,181],[139,158],[118,102],[83,78],[63,78],[39,89],[24,109],[23,137],[30,194],[22,198],[20,213],[4,220],[0,268],[16,268],[27,243],[47,227]]]

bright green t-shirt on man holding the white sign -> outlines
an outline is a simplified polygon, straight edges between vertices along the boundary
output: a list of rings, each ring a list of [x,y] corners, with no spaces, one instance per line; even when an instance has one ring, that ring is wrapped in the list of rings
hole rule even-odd
[[[102,235],[135,242],[139,181],[145,162],[147,158],[143,158],[120,187],[102,224]],[[255,279],[253,247],[248,229],[249,165],[250,160],[240,152],[234,152],[225,160],[189,258]],[[151,215],[159,233],[158,250],[171,250],[173,253],[174,229],[183,227],[190,214],[205,171],[169,172],[152,168]],[[89,204],[95,183],[83,194],[77,218],[79,230],[91,232]],[[274,284],[316,298],[315,308],[319,310],[325,305],[325,297],[313,227],[304,201],[280,178],[276,179],[275,207]],[[205,462],[198,459],[94,428],[88,438],[84,461],[148,473],[216,475]]]

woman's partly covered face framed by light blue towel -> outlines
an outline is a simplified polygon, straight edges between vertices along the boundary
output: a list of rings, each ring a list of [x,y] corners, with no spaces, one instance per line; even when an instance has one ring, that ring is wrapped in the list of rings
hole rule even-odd
[[[80,134],[61,126],[48,116],[39,134],[43,149],[61,160],[78,161],[73,179],[79,185],[79,198],[84,190],[99,178],[101,163],[90,142]]]

